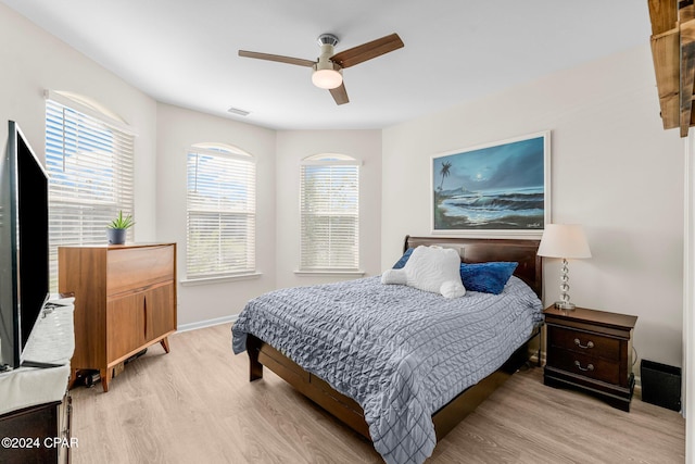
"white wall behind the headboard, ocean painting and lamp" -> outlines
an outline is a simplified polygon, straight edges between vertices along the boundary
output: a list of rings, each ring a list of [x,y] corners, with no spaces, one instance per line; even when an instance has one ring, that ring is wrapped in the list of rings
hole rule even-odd
[[[583,224],[593,253],[570,263],[572,301],[637,315],[639,355],[681,365],[683,142],[662,129],[647,45],[384,129],[382,266],[431,233],[432,154],[545,129],[552,222]],[[558,260],[544,271],[552,304]]]

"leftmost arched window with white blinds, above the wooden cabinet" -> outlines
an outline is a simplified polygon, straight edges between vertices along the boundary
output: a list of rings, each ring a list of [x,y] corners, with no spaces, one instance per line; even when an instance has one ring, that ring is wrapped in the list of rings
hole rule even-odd
[[[49,258],[51,291],[58,291],[58,247],[105,243],[106,225],[118,211],[132,214],[135,136],[84,100],[47,97]]]

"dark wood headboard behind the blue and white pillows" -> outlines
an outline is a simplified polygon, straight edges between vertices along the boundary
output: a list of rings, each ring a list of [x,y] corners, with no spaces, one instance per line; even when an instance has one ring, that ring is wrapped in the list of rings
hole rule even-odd
[[[455,238],[405,236],[403,252],[420,244],[441,244],[459,248],[463,263],[514,261],[519,263],[514,275],[528,284],[539,298],[543,298],[543,262],[536,254],[541,240],[507,238]]]

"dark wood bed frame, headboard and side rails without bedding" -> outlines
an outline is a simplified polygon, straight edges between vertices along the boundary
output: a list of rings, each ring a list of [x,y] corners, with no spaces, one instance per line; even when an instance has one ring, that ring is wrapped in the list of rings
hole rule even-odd
[[[515,275],[526,281],[539,298],[542,298],[542,261],[536,255],[540,240],[406,236],[403,250],[405,251],[419,244],[458,248],[462,262],[465,263],[517,262],[519,265],[515,271]],[[438,441],[475,411],[480,403],[533,355],[539,356],[536,362],[540,363],[540,334],[541,329],[536,327],[527,342],[518,348],[502,367],[460,392],[451,402],[432,414]],[[262,378],[263,367],[266,366],[357,434],[371,441],[369,428],[364,418],[364,411],[352,398],[339,393],[324,379],[306,372],[299,364],[251,334],[247,338],[247,350],[250,361],[251,381]]]

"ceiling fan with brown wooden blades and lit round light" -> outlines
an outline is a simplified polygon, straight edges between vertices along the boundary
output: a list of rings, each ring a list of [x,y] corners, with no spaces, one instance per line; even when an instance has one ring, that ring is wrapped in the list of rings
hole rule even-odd
[[[354,66],[355,64],[381,57],[382,54],[403,47],[403,40],[401,40],[397,34],[381,37],[380,39],[353,47],[340,53],[334,52],[336,45],[338,45],[338,37],[334,35],[321,34],[316,40],[321,48],[321,54],[316,61],[247,50],[239,50],[239,57],[313,67],[314,74],[312,74],[312,81],[314,85],[330,90],[330,95],[333,97],[333,100],[336,100],[336,103],[344,104],[350,101],[342,76],[342,71],[345,67]]]

